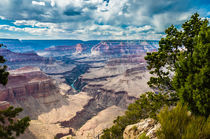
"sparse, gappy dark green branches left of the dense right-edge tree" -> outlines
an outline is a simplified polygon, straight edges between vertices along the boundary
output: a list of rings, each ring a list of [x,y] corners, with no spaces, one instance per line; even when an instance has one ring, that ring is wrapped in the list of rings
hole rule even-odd
[[[174,90],[172,85],[172,75],[176,71],[175,64],[179,61],[180,53],[184,52],[191,57],[194,51],[194,38],[199,34],[203,25],[207,25],[207,20],[201,20],[195,13],[189,21],[182,25],[183,30],[178,30],[173,25],[166,29],[166,37],[159,42],[157,52],[147,53],[147,68],[151,74],[148,84],[150,87],[162,91]]]

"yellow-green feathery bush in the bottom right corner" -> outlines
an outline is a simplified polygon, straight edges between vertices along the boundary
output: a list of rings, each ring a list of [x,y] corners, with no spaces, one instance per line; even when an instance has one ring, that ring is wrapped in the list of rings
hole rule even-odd
[[[169,110],[163,108],[158,114],[161,129],[160,139],[208,139],[210,138],[210,116],[208,119],[190,115],[187,106],[181,103]]]

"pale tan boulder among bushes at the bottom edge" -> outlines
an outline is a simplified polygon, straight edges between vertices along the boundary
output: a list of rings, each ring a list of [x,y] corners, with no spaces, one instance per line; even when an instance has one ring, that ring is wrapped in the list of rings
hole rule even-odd
[[[150,139],[157,139],[157,130],[160,129],[160,124],[154,119],[142,119],[139,123],[128,125],[123,132],[123,139],[139,139],[143,134],[146,134]]]

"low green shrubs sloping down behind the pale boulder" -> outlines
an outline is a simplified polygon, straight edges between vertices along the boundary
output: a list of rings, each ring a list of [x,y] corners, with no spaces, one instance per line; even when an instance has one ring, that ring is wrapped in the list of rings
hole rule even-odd
[[[174,102],[167,95],[147,92],[138,100],[128,106],[125,115],[118,116],[114,125],[105,129],[102,139],[122,139],[123,131],[127,125],[137,123],[140,119],[151,117],[156,119],[156,114],[163,105],[172,105]]]

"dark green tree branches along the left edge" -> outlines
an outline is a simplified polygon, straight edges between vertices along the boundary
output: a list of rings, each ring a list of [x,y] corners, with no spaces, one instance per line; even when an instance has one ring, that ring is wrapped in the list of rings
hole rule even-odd
[[[0,47],[3,45],[1,44]],[[0,63],[4,63],[5,59],[0,56]],[[7,66],[0,66],[0,84],[6,85],[9,73],[6,71]],[[14,139],[14,136],[23,134],[29,126],[29,117],[18,119],[17,116],[23,111],[22,108],[9,107],[5,110],[0,110],[0,138]]]

